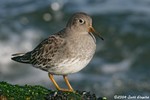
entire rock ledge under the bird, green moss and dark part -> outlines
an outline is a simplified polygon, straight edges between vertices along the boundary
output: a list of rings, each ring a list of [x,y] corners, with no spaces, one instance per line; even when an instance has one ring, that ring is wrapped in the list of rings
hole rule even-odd
[[[19,86],[0,82],[0,100],[106,100],[86,91],[62,92],[42,86]]]

